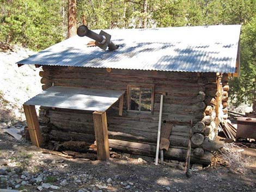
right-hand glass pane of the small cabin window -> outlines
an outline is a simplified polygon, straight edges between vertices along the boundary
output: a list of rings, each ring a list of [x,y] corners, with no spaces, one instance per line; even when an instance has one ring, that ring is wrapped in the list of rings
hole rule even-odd
[[[151,88],[141,88],[141,111],[151,112]]]

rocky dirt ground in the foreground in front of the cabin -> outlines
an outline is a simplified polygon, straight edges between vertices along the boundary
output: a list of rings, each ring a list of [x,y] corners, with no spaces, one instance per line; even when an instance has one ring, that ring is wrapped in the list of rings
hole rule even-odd
[[[23,191],[256,191],[256,149],[247,148],[245,174],[225,166],[192,172],[113,159],[66,159],[44,154],[28,141],[17,141],[0,129],[0,189]],[[145,160],[147,160],[145,158]],[[136,161],[135,161],[136,162]],[[1,190],[0,190],[1,191]]]

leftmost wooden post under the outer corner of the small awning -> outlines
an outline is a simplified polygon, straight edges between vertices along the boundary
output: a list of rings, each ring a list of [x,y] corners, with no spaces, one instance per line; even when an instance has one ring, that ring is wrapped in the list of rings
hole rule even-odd
[[[42,144],[42,135],[39,129],[38,116],[36,115],[35,106],[27,106],[26,104],[23,104],[23,108],[32,144],[40,147]]]

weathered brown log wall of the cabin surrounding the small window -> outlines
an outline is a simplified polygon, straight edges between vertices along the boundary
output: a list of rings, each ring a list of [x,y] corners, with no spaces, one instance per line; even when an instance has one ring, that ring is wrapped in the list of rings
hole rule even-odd
[[[40,72],[42,89],[52,86],[77,86],[94,89],[125,90],[127,85],[154,85],[154,113],[126,112],[124,96],[123,116],[118,115],[118,104],[107,111],[109,139],[155,144],[160,108],[163,100],[162,120],[172,123],[170,147],[184,147],[190,135],[190,121],[203,121],[206,106],[216,94],[216,73],[161,72],[139,70],[93,69],[85,67],[43,66]],[[48,132],[52,140],[94,140],[92,112],[67,109],[41,108],[40,120],[56,128]],[[211,115],[214,112],[211,112]],[[212,121],[212,120],[211,120]],[[210,123],[211,123],[210,121]],[[209,124],[210,125],[210,124]],[[66,134],[68,133],[68,134]],[[65,136],[66,134],[66,136]],[[206,134],[204,134],[204,137]],[[192,147],[203,147],[202,144]],[[206,144],[207,145],[207,144]],[[206,146],[207,148],[207,146]],[[208,150],[211,150],[208,148]],[[216,148],[216,146],[215,146]],[[198,151],[198,150],[196,150]],[[216,151],[216,150],[214,150]],[[203,157],[202,157],[203,158]]]

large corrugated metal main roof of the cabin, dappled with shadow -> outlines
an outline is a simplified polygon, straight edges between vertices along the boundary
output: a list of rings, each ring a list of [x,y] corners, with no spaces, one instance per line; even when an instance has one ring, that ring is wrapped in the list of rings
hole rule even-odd
[[[108,29],[120,45],[115,51],[87,47],[91,39],[74,36],[17,64],[234,73],[240,30],[240,25]]]

